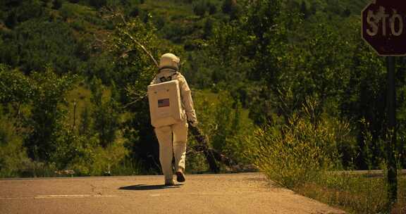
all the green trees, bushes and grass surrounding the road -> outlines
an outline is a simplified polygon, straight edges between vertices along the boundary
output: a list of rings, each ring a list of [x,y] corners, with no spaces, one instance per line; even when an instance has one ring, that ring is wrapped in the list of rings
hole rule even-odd
[[[386,177],[334,174],[386,168],[386,62],[359,36],[368,2],[1,1],[0,177],[160,173],[146,97],[156,68],[142,44],[180,56],[216,151],[350,212],[389,212]],[[187,170],[208,170],[202,153],[188,150]],[[403,177],[399,189],[394,213]]]

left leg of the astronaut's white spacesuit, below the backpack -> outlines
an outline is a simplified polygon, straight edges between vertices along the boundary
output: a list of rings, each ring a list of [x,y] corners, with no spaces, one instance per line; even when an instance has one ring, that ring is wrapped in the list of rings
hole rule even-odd
[[[157,127],[155,128],[155,133],[159,141],[159,160],[161,161],[161,168],[165,176],[165,181],[172,181],[173,148],[171,126]]]

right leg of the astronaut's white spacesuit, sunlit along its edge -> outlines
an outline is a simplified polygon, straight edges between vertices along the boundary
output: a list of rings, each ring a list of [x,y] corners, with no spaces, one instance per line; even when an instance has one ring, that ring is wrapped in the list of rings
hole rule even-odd
[[[185,171],[187,122],[183,121],[172,125],[173,130],[173,154],[175,156],[175,170],[181,168]]]

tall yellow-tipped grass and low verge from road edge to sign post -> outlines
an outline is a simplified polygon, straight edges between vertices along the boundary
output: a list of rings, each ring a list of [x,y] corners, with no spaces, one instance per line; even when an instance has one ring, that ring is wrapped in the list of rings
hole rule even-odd
[[[308,102],[304,110],[315,109],[312,105]],[[314,120],[313,115],[312,111],[301,111],[285,125],[271,124],[256,130],[248,139],[256,145],[249,151],[252,161],[282,187],[349,213],[390,213],[385,170],[381,176],[372,176],[371,171],[364,175],[343,171],[343,148],[356,149],[349,123],[326,115]],[[386,169],[382,163],[381,169]],[[405,177],[400,177],[393,213],[406,212],[405,186]]]

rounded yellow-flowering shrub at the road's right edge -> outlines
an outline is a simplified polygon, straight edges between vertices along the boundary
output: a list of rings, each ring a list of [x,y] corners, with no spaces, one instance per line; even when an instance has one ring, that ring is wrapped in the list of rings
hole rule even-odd
[[[286,125],[259,128],[249,139],[257,145],[250,151],[254,163],[283,187],[319,180],[324,172],[340,166],[338,145],[355,141],[349,137],[347,122],[324,116],[314,123],[312,114],[304,112],[293,115]]]

